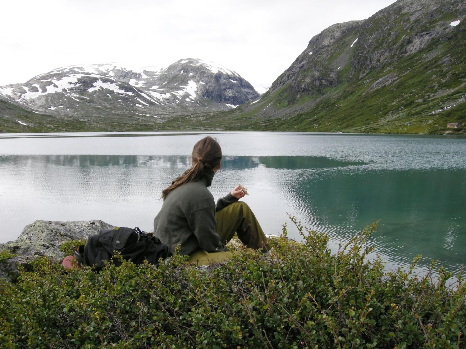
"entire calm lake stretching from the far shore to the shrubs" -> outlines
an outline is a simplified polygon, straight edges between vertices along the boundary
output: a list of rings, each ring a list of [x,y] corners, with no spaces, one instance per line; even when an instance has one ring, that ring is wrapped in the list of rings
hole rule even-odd
[[[466,264],[466,137],[312,133],[0,135],[0,242],[34,220],[101,219],[150,231],[161,190],[205,134],[223,150],[215,199],[241,183],[264,231],[287,213],[334,250],[380,220],[370,244],[389,266]]]

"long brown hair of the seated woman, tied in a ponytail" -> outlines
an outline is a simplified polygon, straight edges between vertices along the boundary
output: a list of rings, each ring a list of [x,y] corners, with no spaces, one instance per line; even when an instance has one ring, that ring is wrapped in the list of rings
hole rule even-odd
[[[173,189],[185,183],[199,181],[204,175],[204,170],[213,170],[220,166],[222,160],[222,149],[220,144],[211,136],[206,136],[198,141],[192,148],[191,168],[187,169],[183,175],[178,176],[168,188],[162,190],[162,199]]]

